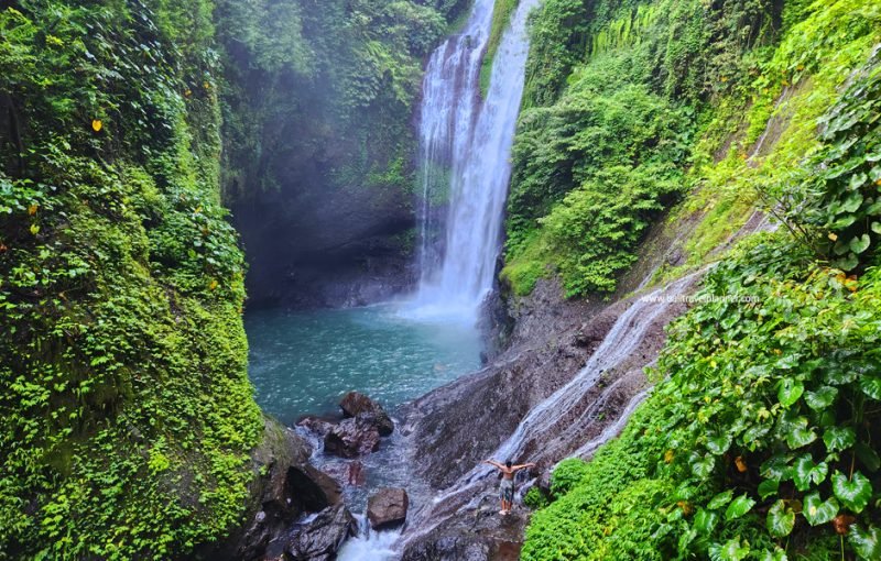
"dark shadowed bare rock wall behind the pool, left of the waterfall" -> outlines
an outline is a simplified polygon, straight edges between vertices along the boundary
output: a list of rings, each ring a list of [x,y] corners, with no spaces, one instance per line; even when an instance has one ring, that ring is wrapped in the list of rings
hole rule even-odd
[[[402,190],[333,189],[313,177],[241,200],[232,212],[252,306],[358,306],[413,283],[415,219]]]

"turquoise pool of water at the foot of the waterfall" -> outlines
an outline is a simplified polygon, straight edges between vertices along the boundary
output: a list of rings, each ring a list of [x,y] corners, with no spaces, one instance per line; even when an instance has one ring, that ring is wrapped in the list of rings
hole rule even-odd
[[[412,318],[394,305],[253,310],[244,327],[257,402],[287,425],[306,414],[337,411],[351,389],[393,410],[480,362],[471,323]]]

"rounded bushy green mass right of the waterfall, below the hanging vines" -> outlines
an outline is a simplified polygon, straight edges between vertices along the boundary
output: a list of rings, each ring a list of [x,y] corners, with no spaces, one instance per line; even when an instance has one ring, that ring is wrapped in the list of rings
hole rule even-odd
[[[645,228],[681,189],[687,119],[645,86],[610,80],[613,72],[617,63],[591,67],[557,105],[521,117],[502,273],[516,294],[534,283],[518,270],[548,262],[568,296],[614,290]]]

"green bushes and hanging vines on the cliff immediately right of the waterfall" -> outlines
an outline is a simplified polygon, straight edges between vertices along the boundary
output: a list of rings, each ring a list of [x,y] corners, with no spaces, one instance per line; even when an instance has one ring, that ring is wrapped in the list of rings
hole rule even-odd
[[[646,226],[690,186],[706,101],[747,90],[779,19],[763,0],[545,2],[514,145],[509,265],[550,266],[568,296],[613,292]],[[546,251],[526,251],[527,238]],[[534,275],[515,272],[513,292],[527,294]]]

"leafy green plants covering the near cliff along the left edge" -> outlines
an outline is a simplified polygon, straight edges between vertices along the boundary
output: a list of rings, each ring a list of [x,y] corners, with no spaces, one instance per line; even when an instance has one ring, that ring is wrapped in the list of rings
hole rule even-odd
[[[0,12],[2,559],[168,559],[239,521],[262,421],[211,37],[202,0]]]

